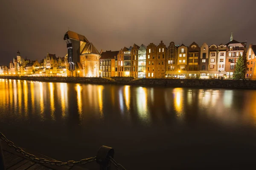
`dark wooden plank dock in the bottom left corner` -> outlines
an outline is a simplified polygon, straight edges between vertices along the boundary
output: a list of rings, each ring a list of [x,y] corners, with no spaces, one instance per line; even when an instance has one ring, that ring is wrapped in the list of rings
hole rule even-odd
[[[88,170],[81,166],[53,166],[49,164],[41,164],[36,163],[35,161],[30,160],[26,156],[22,155],[21,153],[17,153],[15,150],[10,148],[7,144],[2,142],[3,147],[3,157],[5,162],[6,170]],[[46,156],[41,156],[42,158],[48,160],[50,159]]]

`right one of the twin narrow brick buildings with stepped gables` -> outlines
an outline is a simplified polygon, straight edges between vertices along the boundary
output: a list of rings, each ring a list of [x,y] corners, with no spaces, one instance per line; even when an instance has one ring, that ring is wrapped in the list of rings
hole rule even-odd
[[[174,42],[172,42],[174,44]],[[175,47],[175,46],[174,46]],[[175,47],[176,48],[176,47]],[[157,55],[156,55],[156,78],[164,78],[166,71],[166,45],[163,41],[157,45]]]

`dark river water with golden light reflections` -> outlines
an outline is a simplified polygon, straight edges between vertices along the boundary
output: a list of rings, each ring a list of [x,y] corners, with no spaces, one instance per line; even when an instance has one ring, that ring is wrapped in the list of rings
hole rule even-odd
[[[247,169],[256,91],[0,79],[0,131],[61,161],[107,145],[127,170]]]

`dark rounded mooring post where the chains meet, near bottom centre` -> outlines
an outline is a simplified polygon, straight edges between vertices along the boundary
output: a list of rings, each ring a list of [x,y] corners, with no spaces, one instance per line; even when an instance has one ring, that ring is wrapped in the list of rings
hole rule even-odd
[[[110,170],[111,161],[109,156],[114,157],[114,149],[112,147],[102,146],[99,148],[96,156],[99,170]]]

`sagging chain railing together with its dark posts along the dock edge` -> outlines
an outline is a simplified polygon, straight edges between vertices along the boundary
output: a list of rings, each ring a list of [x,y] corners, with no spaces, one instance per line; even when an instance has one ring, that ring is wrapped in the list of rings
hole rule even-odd
[[[96,161],[99,164],[99,170],[110,170],[111,163],[116,167],[116,170],[125,170],[125,168],[117,163],[113,157],[114,157],[114,149],[107,146],[101,146],[98,150],[97,156],[81,159],[80,161],[53,161],[53,160],[47,160],[44,158],[37,158],[35,155],[32,155],[30,153],[26,153],[23,149],[20,147],[16,147],[15,144],[8,140],[6,136],[3,135],[3,133],[0,132],[0,170],[6,170],[5,164],[4,164],[4,157],[3,157],[3,150],[1,145],[1,140],[6,142],[9,147],[12,147],[15,149],[17,153],[21,153],[24,156],[26,156],[28,159],[31,159],[32,161],[40,164],[48,164],[48,165],[55,165],[55,166],[74,166],[75,164],[87,164],[93,161]]]

